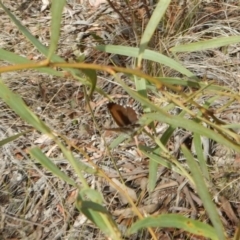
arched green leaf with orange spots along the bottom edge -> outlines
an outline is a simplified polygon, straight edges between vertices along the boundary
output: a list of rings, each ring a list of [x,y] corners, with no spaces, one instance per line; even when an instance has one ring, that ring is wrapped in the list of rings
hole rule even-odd
[[[146,217],[134,223],[130,229],[129,234],[136,233],[141,228],[146,227],[166,227],[179,228],[192,234],[218,240],[215,229],[205,223],[183,217],[179,214],[162,214],[160,216]]]

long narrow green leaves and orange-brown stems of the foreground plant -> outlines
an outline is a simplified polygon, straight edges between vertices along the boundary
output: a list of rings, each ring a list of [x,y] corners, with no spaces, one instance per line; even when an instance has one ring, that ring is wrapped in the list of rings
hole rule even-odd
[[[159,66],[164,65],[177,71],[178,73],[181,73],[182,75],[184,75],[184,77],[187,77],[187,79],[181,79],[177,77],[167,78],[162,76],[152,77],[141,72],[138,69],[99,66],[96,64],[85,63],[65,63],[63,59],[61,59],[55,54],[60,35],[61,14],[65,5],[65,1],[63,0],[52,1],[51,41],[49,49],[46,48],[42,43],[40,43],[27,30],[27,28],[25,28],[22,23],[18,21],[17,18],[3,5],[3,3],[0,2],[0,6],[15,23],[19,31],[31,42],[33,46],[38,49],[40,53],[42,53],[46,57],[45,61],[35,63],[14,53],[0,49],[0,59],[8,61],[12,64],[16,64],[10,67],[1,67],[0,73],[33,68],[36,71],[44,72],[54,76],[63,76],[62,72],[56,71],[52,68],[53,66],[62,67],[65,71],[70,72],[77,81],[80,81],[86,87],[90,87],[90,98],[94,91],[98,91],[102,95],[105,94],[101,89],[97,87],[97,70],[102,70],[112,74],[115,77],[116,82],[118,82],[131,97],[139,101],[146,109],[152,111],[152,113],[147,113],[140,119],[140,123],[142,126],[147,126],[153,121],[164,122],[169,126],[165,133],[162,135],[161,139],[154,139],[153,137],[153,140],[156,143],[155,149],[149,149],[146,146],[139,147],[142,153],[150,160],[149,190],[153,191],[154,187],[156,186],[157,167],[159,164],[185,176],[196,187],[196,190],[203,201],[205,210],[208,213],[208,216],[213,225],[212,227],[209,224],[200,222],[200,220],[191,220],[189,218],[176,214],[160,214],[159,216],[155,217],[142,217],[142,215],[138,212],[135,204],[131,202],[128,198],[129,204],[132,206],[133,209],[135,209],[140,219],[139,221],[134,223],[133,226],[129,229],[129,233],[134,233],[141,228],[148,227],[174,227],[181,228],[184,231],[204,236],[206,238],[225,239],[223,225],[217,213],[216,206],[212,201],[212,197],[209,194],[209,190],[205,184],[205,179],[210,180],[210,176],[208,172],[208,167],[206,165],[206,159],[204,158],[204,155],[202,153],[200,137],[204,136],[208,139],[212,139],[224,146],[227,146],[229,149],[234,149],[237,152],[240,152],[240,139],[239,136],[230,129],[231,127],[233,128],[236,126],[229,125],[228,127],[226,127],[223,126],[220,122],[211,122],[209,118],[212,117],[212,115],[210,112],[208,112],[209,106],[204,106],[204,108],[199,107],[192,100],[195,96],[194,93],[192,95],[184,94],[182,88],[177,88],[176,85],[196,88],[198,90],[197,94],[201,96],[203,95],[204,91],[212,91],[215,95],[220,96],[221,92],[227,90],[226,88],[222,88],[221,86],[214,84],[206,85],[205,83],[200,82],[191,71],[182,66],[177,60],[165,56],[164,54],[160,54],[156,51],[147,49],[151,37],[153,36],[159,22],[162,20],[162,17],[164,16],[164,13],[167,10],[170,2],[171,1],[169,0],[159,1],[156,6],[156,10],[154,11],[148,25],[145,28],[145,31],[142,34],[139,48],[116,45],[101,45],[97,46],[96,49],[107,53],[114,53],[137,58],[138,67],[141,66],[142,60],[152,61],[159,64]],[[238,42],[240,42],[240,37],[213,39],[183,46],[179,45],[173,47],[171,51],[173,53],[186,51],[201,51],[207,48],[220,47]],[[138,91],[131,90],[121,79],[118,78],[116,72],[122,72],[134,76],[136,89],[138,89]],[[195,80],[189,79],[190,77],[195,78]],[[177,95],[175,97],[165,93],[165,96],[168,98],[170,103],[164,108],[158,107],[146,98],[146,93],[149,89],[153,90],[153,92],[158,94],[161,87],[171,89],[175,91]],[[181,101],[179,101],[179,96],[182,98]],[[33,111],[31,111],[25,105],[24,101],[21,99],[20,96],[14,94],[3,82],[0,82],[0,97],[25,122],[29,123],[31,126],[33,126],[34,129],[38,130],[39,132],[47,134],[53,141],[55,141],[57,146],[61,149],[63,155],[68,159],[72,168],[76,172],[82,184],[81,187],[76,184],[73,179],[64,174],[54,163],[52,163],[49,158],[41,152],[40,149],[35,147],[30,149],[29,152],[31,156],[38,162],[40,162],[50,172],[55,174],[58,178],[78,188],[79,194],[76,201],[76,207],[78,208],[78,210],[81,211],[89,220],[91,220],[102,232],[104,232],[106,236],[111,237],[112,239],[121,239],[122,236],[120,230],[117,227],[117,224],[113,220],[111,213],[104,207],[104,201],[102,199],[101,193],[90,188],[83,173],[98,175],[102,177],[106,177],[106,175],[104,175],[104,173],[101,172],[94,165],[90,167],[89,165],[77,161],[74,158],[72,152],[56,137],[55,133],[43,121],[41,121],[36,116],[36,114],[33,113]],[[231,94],[231,97],[237,98],[237,96],[234,94]],[[182,111],[179,113],[179,115],[170,115],[169,109],[172,109],[176,106],[181,108]],[[192,108],[197,109],[197,113],[194,113],[191,110]],[[187,119],[187,114],[190,115],[192,119]],[[203,125],[202,123],[210,126],[211,129],[205,127],[205,125]],[[190,173],[185,168],[183,168],[174,157],[169,157],[167,155],[168,153],[166,152],[165,146],[169,141],[170,137],[172,136],[174,130],[177,128],[186,129],[194,136],[193,144],[196,149],[199,165],[194,160],[192,154],[186,149],[186,147],[182,147],[182,152],[184,153],[187,160]],[[1,145],[15,140],[16,138],[22,136],[24,133],[2,140]],[[116,147],[126,138],[128,138],[128,136],[120,135],[116,140],[112,142],[110,148]],[[82,154],[84,153],[82,152]],[[123,193],[126,194],[125,192]],[[156,236],[151,231],[151,229],[149,231],[151,232],[152,237],[155,238]]]

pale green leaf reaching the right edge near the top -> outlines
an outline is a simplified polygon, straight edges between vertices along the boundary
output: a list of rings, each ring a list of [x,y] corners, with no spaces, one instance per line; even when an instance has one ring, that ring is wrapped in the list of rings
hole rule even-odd
[[[196,43],[189,43],[185,45],[176,46],[170,49],[171,52],[194,52],[202,51],[211,48],[222,47],[230,44],[240,42],[239,36],[223,37],[217,39],[210,39],[205,41],[199,41]]]

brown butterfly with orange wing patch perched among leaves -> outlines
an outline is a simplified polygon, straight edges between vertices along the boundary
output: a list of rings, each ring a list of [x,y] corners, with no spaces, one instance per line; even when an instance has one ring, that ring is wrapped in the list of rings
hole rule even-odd
[[[107,108],[117,125],[120,127],[119,130],[140,126],[139,124],[136,124],[138,121],[138,114],[133,108],[129,106],[124,107],[113,102],[108,103]]]

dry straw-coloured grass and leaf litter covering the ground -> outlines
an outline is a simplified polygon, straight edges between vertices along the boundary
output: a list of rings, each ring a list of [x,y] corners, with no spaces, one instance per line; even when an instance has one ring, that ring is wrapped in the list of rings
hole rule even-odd
[[[130,21],[129,8],[124,5],[116,7]],[[135,6],[137,1],[133,1]],[[172,1],[175,2],[175,1]],[[185,2],[185,1],[183,1]],[[155,34],[151,48],[171,56],[168,49],[179,43],[190,43],[201,39],[211,39],[221,36],[240,35],[240,6],[231,1],[207,3],[207,1],[190,1],[192,4],[172,4],[164,21]],[[21,5],[17,1],[5,0],[3,3],[18,16],[31,33],[38,36],[43,44],[49,43],[49,8],[41,12],[42,2],[26,1]],[[135,5],[134,5],[135,4]],[[141,29],[148,18],[143,13],[143,7],[136,7],[136,24],[138,38],[126,25],[122,18],[109,5],[101,4],[97,8],[88,1],[68,1],[63,13],[63,25],[59,41],[58,55],[67,61],[75,61],[85,55],[86,62],[111,64],[112,59],[119,65],[131,66],[131,59],[121,58],[96,52],[92,47],[98,44],[93,33],[100,36],[100,44],[121,44],[137,46]],[[151,11],[151,8],[148,8]],[[0,9],[0,48],[15,52],[33,60],[40,60],[41,55],[26,39],[19,34],[7,15]],[[87,24],[85,24],[87,21]],[[131,24],[130,24],[131,25]],[[179,61],[199,78],[205,81],[214,80],[216,84],[227,86],[239,91],[239,45],[194,53],[178,55]],[[8,63],[2,62],[1,65]],[[125,65],[126,64],[126,65]],[[150,69],[150,70],[149,70]],[[151,75],[179,76],[173,70],[158,65],[152,68],[145,66],[145,71]],[[86,107],[83,86],[70,78],[56,78],[35,71],[6,73],[1,76],[5,83],[18,93],[26,104],[48,126],[59,134],[66,136],[76,146],[88,154],[88,159],[76,150],[77,159],[87,162],[91,160],[108,173],[110,178],[117,178],[118,173],[110,158],[116,159],[117,167],[131,191],[138,197],[139,208],[147,214],[162,212],[179,212],[187,216],[208,221],[202,209],[202,202],[190,185],[185,185],[183,177],[176,175],[163,167],[159,167],[158,183],[153,193],[147,191],[148,159],[139,156],[134,144],[127,143],[116,148],[111,156],[106,152],[103,138],[109,144],[115,133],[98,131],[91,114]],[[128,82],[132,84],[131,81]],[[111,77],[99,73],[98,86],[117,102],[132,100]],[[158,96],[149,93],[151,100],[160,102]],[[210,98],[210,96],[205,96]],[[204,99],[202,99],[204,100]],[[108,100],[95,93],[91,101],[96,122],[102,129],[111,126],[112,120],[106,110]],[[228,99],[222,98],[212,108],[218,109]],[[4,139],[16,133],[29,129],[5,103],[0,102],[0,136]],[[227,122],[239,122],[239,103],[229,106],[217,114],[217,117]],[[164,126],[157,129],[164,131]],[[186,137],[183,130],[176,132],[176,137]],[[179,140],[181,142],[181,140]],[[190,140],[189,140],[190,141]],[[146,136],[140,142],[153,146]],[[169,147],[176,148],[174,139]],[[27,150],[38,145],[41,150],[67,175],[79,181],[62,157],[57,146],[38,132],[31,132],[16,141],[6,144],[0,153],[0,238],[1,239],[105,239],[99,230],[79,213],[74,206],[76,189],[52,176],[50,172],[30,159]],[[176,152],[179,149],[175,149]],[[209,150],[209,169],[212,183],[219,191],[219,204],[222,222],[229,237],[234,235],[240,218],[240,186],[239,186],[239,155],[212,144]],[[126,206],[124,197],[97,176],[85,176],[89,184],[104,195],[107,209],[112,213],[125,232],[134,221],[133,214]],[[178,191],[177,191],[178,190]],[[178,203],[176,201],[178,200]],[[169,230],[157,233],[159,239],[201,239],[197,236],[184,235],[181,231]],[[168,235],[169,234],[169,235]],[[167,238],[168,235],[168,238]],[[171,237],[169,237],[171,236]],[[136,238],[135,238],[136,237]],[[142,236],[131,236],[126,239],[150,239],[147,232]]]

